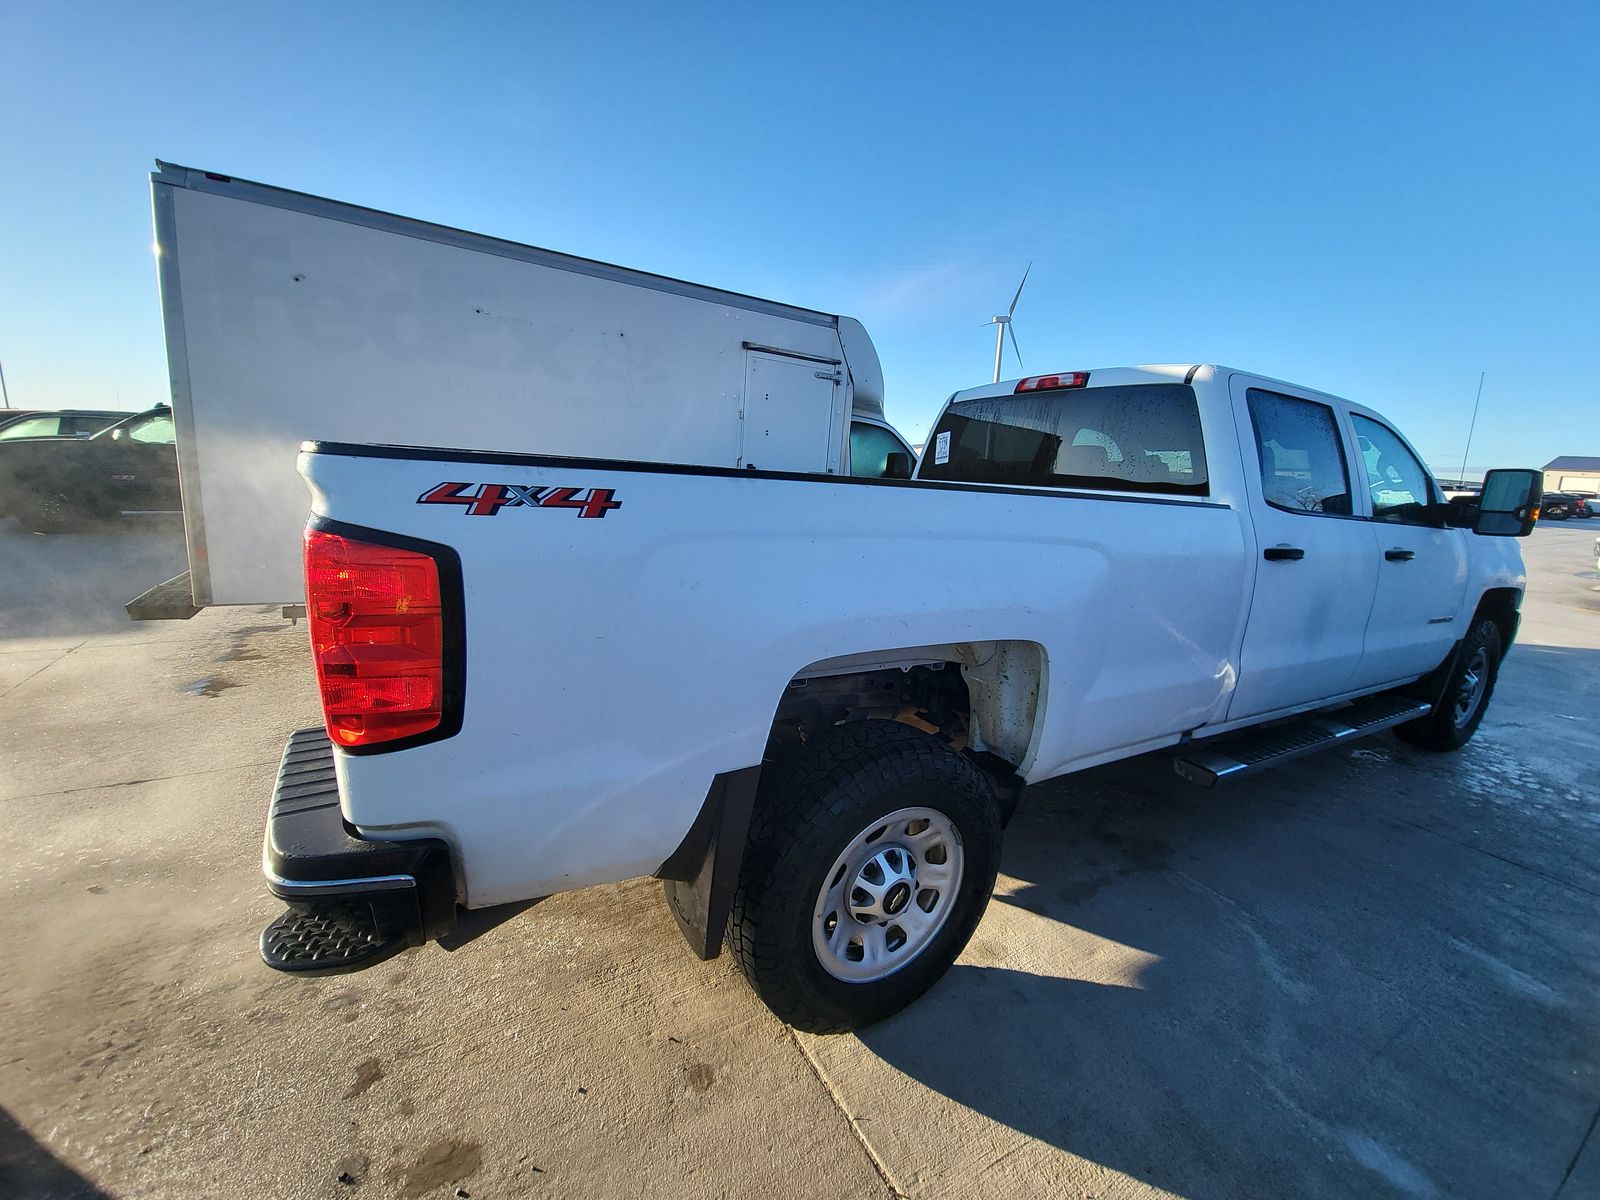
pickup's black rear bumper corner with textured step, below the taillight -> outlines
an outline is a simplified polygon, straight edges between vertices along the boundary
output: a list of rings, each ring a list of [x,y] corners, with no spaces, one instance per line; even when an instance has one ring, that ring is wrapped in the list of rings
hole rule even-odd
[[[261,869],[290,906],[261,934],[261,957],[278,971],[358,971],[454,926],[450,848],[352,834],[323,730],[301,730],[283,747]]]

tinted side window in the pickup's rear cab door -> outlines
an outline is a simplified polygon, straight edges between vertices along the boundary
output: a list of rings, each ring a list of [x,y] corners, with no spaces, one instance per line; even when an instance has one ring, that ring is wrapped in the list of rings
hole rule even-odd
[[[1333,408],[1261,387],[1246,392],[1261,493],[1285,512],[1349,517],[1350,472]]]

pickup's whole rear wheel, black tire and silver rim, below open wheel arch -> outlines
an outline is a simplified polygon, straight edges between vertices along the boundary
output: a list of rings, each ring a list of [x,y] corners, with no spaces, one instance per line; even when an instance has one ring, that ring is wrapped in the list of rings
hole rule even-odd
[[[838,725],[768,768],[728,942],[781,1019],[859,1029],[949,970],[998,861],[998,805],[971,762],[907,725]]]

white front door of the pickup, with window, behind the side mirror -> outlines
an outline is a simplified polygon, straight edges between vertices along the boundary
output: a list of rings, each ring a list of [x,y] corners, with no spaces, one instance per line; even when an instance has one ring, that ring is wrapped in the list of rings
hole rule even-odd
[[[1350,424],[1371,498],[1378,563],[1366,658],[1357,674],[1365,688],[1426,675],[1466,634],[1456,613],[1467,590],[1469,533],[1443,528],[1437,509],[1429,510],[1442,496],[1405,438],[1362,413],[1352,413]]]

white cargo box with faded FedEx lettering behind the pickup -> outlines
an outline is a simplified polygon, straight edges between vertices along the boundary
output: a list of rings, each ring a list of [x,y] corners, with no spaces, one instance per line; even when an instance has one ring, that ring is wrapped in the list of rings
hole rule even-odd
[[[850,317],[157,168],[181,614],[302,598],[307,440],[850,474],[854,438],[883,470]]]

